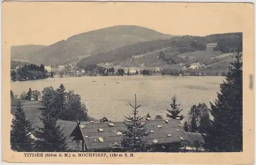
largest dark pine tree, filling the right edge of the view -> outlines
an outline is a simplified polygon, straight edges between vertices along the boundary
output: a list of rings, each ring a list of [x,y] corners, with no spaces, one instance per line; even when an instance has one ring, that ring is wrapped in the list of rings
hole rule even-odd
[[[236,54],[225,80],[220,85],[220,93],[211,105],[212,126],[207,129],[204,147],[211,152],[241,152],[243,150],[242,131],[242,54]]]

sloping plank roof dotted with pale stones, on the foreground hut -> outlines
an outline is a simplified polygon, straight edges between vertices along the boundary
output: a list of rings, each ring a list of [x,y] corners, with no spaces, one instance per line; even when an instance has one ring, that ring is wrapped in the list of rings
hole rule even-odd
[[[141,122],[146,123],[145,126],[148,132],[151,132],[152,130],[154,131],[154,133],[150,133],[150,135],[148,135],[148,143],[153,143],[154,139],[158,141],[156,144],[188,142],[187,135],[181,126],[180,120],[172,119],[168,120],[168,123],[166,123],[165,120],[150,120]],[[113,123],[114,126],[108,126],[109,123]],[[158,125],[162,125],[162,128],[158,128]],[[75,132],[82,132],[83,139],[86,142],[86,146],[89,150],[114,148],[115,143],[120,144],[122,140],[122,135],[117,135],[117,132],[120,130],[126,130],[126,126],[123,122],[94,124],[80,123],[79,126],[80,128],[77,126],[70,136],[74,137],[74,140],[79,140],[77,139],[77,136],[79,135]],[[103,129],[103,131],[99,132],[99,128]],[[177,131],[177,129],[179,131]],[[171,134],[171,136],[168,136],[168,134]],[[99,137],[103,138],[103,142],[99,141]],[[181,137],[183,140],[181,140]]]

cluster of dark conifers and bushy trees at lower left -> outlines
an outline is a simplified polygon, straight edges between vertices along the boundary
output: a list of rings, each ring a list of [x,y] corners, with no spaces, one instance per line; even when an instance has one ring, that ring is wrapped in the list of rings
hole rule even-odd
[[[13,98],[13,92],[11,91]],[[29,89],[25,99],[31,100],[32,90]],[[16,112],[11,125],[11,147],[15,151],[66,151],[67,140],[63,134],[61,125],[57,120],[67,121],[89,121],[93,120],[88,116],[86,105],[81,103],[81,97],[73,91],[66,92],[61,84],[54,90],[52,87],[44,88],[42,91],[40,121],[42,127],[35,130],[31,122],[26,118],[25,111],[18,100]],[[31,139],[30,135],[35,132],[37,140]],[[17,138],[20,137],[20,138]]]

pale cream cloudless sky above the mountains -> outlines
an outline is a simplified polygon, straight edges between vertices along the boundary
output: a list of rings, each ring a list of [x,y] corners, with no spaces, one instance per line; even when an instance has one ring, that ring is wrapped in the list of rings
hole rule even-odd
[[[234,3],[4,2],[3,40],[51,45],[84,32],[138,25],[172,35],[241,32],[253,5]]]

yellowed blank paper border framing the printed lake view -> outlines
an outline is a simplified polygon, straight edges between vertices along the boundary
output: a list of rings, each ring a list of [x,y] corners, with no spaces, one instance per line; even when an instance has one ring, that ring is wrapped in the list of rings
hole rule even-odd
[[[8,30],[8,15],[5,14],[9,5],[25,5],[26,3],[40,3],[40,5],[51,5],[56,2],[4,2],[2,27],[3,27],[3,39],[2,39],[2,160],[9,163],[140,163],[140,164],[253,164],[254,163],[254,89],[249,89],[249,75],[254,76],[254,6],[249,3],[215,3],[215,7],[225,6],[226,12],[234,12],[234,15],[239,15],[240,22],[237,26],[243,33],[243,152],[241,153],[134,153],[134,157],[25,157],[24,153],[13,152],[10,150],[10,46],[11,38],[9,37],[11,32]],[[44,4],[42,4],[44,3]],[[88,7],[98,6],[99,2],[58,2],[65,5],[70,3],[87,3]],[[129,5],[127,5],[129,3]],[[139,2],[120,2],[113,3],[108,2],[105,4],[106,8],[131,8],[133,5],[141,5],[141,12],[146,7],[154,7],[155,2],[151,3],[139,3]],[[164,3],[164,5],[177,5],[178,3]],[[179,3],[180,4],[180,3]],[[188,3],[182,3],[184,6]],[[189,2],[189,4],[194,4]],[[204,6],[212,5],[212,3],[195,3],[193,10],[200,10]],[[221,7],[223,9],[224,7]],[[239,6],[239,10],[238,7]],[[158,8],[155,10],[161,10]],[[177,9],[178,10],[178,9]],[[212,9],[214,10],[214,9]],[[111,10],[110,10],[111,11]],[[13,11],[15,12],[15,11]],[[184,13],[185,14],[185,13]],[[189,13],[187,13],[189,14]],[[132,15],[131,15],[132,17]],[[226,15],[223,15],[222,19],[228,19]],[[218,18],[217,18],[218,19]],[[199,27],[200,28],[200,27]],[[225,27],[220,27],[225,28]],[[45,153],[44,153],[45,154]],[[59,154],[59,153],[57,153]],[[63,153],[62,153],[63,154]],[[78,153],[70,153],[78,154]]]

